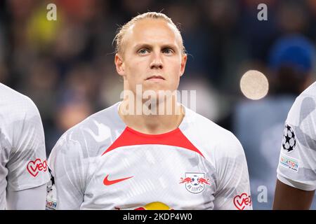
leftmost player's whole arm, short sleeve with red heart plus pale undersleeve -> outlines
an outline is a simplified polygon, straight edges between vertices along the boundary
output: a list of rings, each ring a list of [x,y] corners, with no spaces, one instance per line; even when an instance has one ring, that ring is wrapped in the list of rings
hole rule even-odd
[[[44,129],[32,100],[26,99],[21,110],[21,120],[12,125],[13,145],[6,164],[8,208],[43,209],[46,193],[43,186],[49,180]]]

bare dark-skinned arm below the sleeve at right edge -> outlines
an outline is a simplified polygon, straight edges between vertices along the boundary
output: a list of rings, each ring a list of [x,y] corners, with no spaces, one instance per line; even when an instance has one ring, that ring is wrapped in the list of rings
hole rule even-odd
[[[315,190],[293,188],[277,180],[275,188],[274,210],[310,209]]]

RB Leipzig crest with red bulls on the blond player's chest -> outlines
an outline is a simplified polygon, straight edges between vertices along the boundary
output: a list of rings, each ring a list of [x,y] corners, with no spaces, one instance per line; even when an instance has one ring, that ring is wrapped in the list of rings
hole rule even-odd
[[[202,193],[205,185],[211,186],[209,178],[206,178],[204,173],[185,173],[185,177],[181,177],[179,183],[185,183],[185,188],[194,194]]]

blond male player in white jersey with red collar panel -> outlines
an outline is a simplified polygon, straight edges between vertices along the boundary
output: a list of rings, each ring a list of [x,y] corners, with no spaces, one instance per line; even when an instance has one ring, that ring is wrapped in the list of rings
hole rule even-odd
[[[142,98],[178,88],[187,55],[176,25],[162,13],[144,13],[121,27],[115,40],[124,100],[58,140],[48,159],[55,183],[48,204],[57,203],[57,209],[252,209],[246,158],[236,137],[176,102],[175,95],[150,106]],[[168,105],[172,113],[165,111]],[[166,113],[147,114],[157,108]]]

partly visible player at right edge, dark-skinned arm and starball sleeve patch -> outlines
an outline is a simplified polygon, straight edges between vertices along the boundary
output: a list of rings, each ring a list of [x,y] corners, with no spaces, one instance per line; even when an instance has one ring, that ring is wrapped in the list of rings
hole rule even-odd
[[[273,209],[310,209],[316,189],[316,83],[289,111],[277,179]]]

